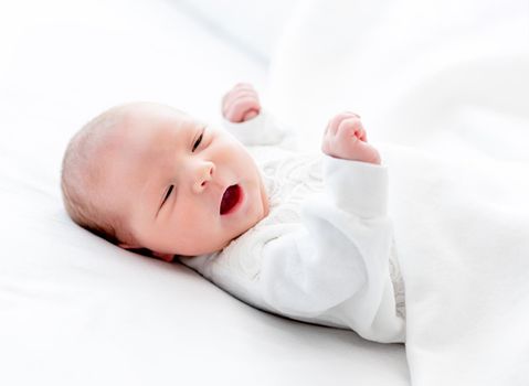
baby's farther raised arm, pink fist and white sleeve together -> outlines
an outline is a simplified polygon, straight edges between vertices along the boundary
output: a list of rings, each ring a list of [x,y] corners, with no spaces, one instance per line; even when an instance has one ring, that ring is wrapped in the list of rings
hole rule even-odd
[[[246,146],[282,144],[292,135],[262,108],[257,92],[247,83],[236,84],[222,98],[224,128]]]

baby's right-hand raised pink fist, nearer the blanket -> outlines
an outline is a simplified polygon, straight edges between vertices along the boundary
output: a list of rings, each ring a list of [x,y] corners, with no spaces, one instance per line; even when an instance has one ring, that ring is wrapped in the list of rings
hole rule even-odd
[[[335,158],[380,164],[379,151],[368,143],[360,116],[355,112],[338,114],[329,121],[321,150]]]

